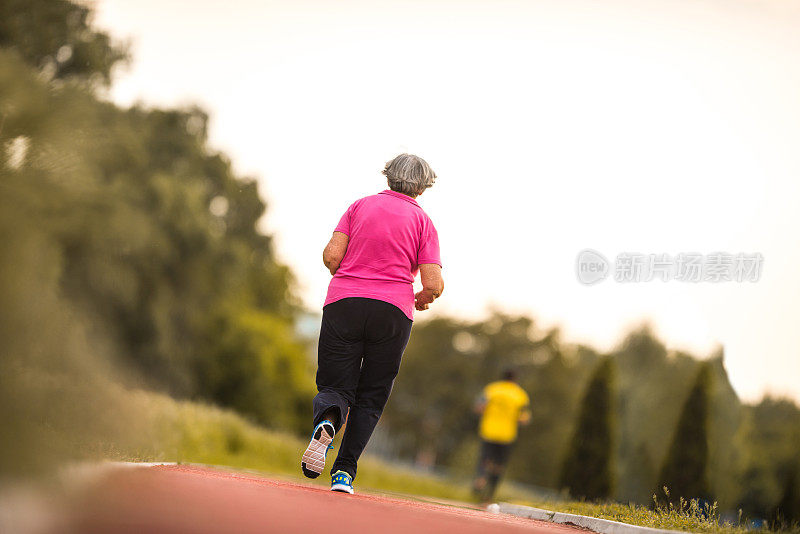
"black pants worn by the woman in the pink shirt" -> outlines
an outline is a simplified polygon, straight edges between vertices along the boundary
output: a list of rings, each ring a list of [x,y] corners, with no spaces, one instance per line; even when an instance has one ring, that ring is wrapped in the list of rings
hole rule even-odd
[[[339,415],[337,431],[347,418],[331,474],[342,470],[356,476],[358,458],[392,391],[411,325],[398,307],[381,300],[346,298],[323,308],[314,426],[330,409]]]

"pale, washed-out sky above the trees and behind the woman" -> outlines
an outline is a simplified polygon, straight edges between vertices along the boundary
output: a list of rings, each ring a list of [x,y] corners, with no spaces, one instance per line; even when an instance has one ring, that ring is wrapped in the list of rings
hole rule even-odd
[[[319,309],[321,250],[399,152],[446,291],[600,350],[647,320],[722,345],[745,400],[800,400],[800,7],[781,0],[99,0],[132,43],[109,97],[211,114]],[[798,4],[800,6],[800,4]],[[581,285],[579,251],[755,253],[756,283]],[[424,317],[418,314],[418,318]],[[432,355],[432,357],[434,357]]]

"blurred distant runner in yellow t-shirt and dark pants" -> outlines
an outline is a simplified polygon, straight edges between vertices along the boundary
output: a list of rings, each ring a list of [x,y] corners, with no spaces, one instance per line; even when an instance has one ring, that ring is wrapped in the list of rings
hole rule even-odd
[[[487,385],[475,404],[475,411],[481,415],[481,455],[472,489],[482,502],[491,500],[497,489],[517,439],[517,428],[530,421],[529,406],[528,394],[516,383],[513,369],[503,372],[502,380]]]

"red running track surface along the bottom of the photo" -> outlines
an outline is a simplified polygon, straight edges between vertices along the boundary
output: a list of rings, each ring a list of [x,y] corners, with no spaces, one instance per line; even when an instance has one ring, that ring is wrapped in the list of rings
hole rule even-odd
[[[581,530],[189,466],[115,470],[74,495],[69,509],[60,532],[576,534]]]

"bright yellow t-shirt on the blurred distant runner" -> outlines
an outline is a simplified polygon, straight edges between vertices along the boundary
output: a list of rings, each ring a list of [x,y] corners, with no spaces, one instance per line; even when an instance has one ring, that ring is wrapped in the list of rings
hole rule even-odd
[[[525,390],[514,382],[499,380],[483,389],[483,397],[486,407],[481,417],[481,438],[495,443],[517,439],[520,414],[530,404]]]

